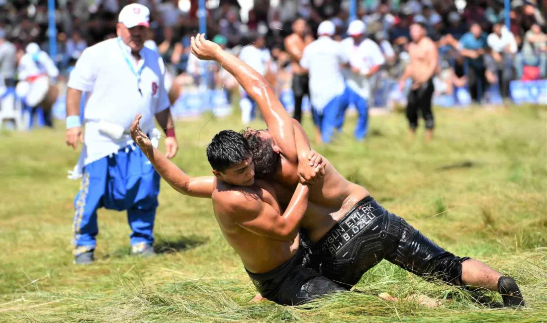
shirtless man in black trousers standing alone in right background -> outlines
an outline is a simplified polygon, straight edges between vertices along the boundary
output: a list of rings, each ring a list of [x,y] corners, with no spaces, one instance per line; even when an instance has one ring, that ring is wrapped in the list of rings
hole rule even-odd
[[[410,63],[406,66],[403,76],[399,81],[399,88],[404,90],[406,79],[412,79],[412,87],[406,105],[406,118],[409,120],[410,133],[414,137],[418,127],[418,113],[421,113],[426,121],[426,139],[433,139],[435,126],[433,111],[431,109],[433,92],[433,76],[439,64],[439,52],[437,46],[427,35],[427,27],[415,22],[410,25],[409,44]]]

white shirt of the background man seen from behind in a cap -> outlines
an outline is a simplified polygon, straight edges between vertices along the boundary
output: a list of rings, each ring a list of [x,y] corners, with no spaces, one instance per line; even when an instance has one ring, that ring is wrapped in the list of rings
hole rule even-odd
[[[320,113],[332,99],[344,93],[341,64],[350,60],[343,46],[327,36],[307,45],[300,66],[310,75],[310,101]]]

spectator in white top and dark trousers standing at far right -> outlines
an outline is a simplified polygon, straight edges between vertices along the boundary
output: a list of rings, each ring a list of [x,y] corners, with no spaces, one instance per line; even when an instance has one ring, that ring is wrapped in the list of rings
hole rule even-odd
[[[509,82],[513,79],[513,59],[517,51],[515,36],[502,21],[497,21],[487,37],[487,42],[491,55],[487,55],[485,59],[493,60],[501,95],[504,98],[509,97]]]

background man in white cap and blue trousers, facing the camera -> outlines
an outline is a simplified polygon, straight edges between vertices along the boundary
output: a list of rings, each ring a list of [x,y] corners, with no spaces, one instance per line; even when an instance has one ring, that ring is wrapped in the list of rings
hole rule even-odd
[[[365,24],[360,20],[353,20],[348,27],[350,37],[342,40],[342,48],[350,55],[350,68],[344,69],[346,90],[340,102],[340,113],[336,122],[338,130],[344,124],[344,114],[350,104],[355,105],[359,113],[355,138],[363,140],[368,130],[368,99],[370,96],[369,79],[379,71],[386,62],[380,46],[373,40],[365,38]]]

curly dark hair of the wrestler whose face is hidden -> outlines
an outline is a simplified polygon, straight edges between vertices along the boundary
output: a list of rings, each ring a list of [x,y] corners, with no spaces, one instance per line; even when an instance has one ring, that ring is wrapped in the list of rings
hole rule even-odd
[[[272,139],[264,140],[260,137],[258,130],[252,130],[251,128],[242,130],[241,134],[247,139],[251,148],[254,163],[254,178],[263,179],[275,173],[280,156],[272,148]]]

